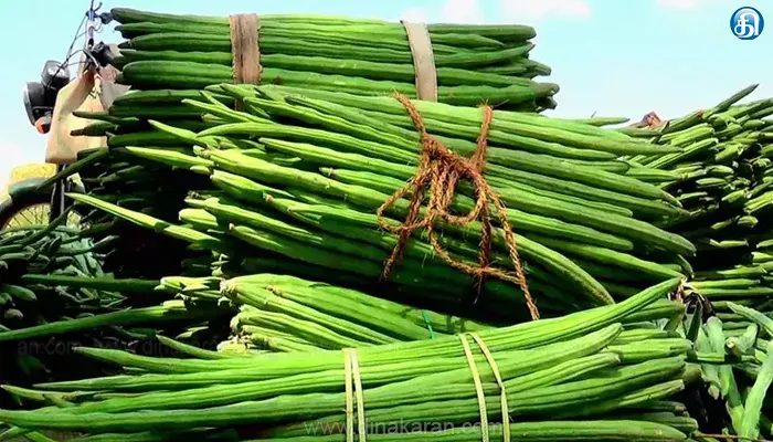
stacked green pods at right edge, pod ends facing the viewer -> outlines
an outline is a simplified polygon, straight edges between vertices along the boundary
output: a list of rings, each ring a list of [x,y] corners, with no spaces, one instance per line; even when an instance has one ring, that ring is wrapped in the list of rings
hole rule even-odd
[[[743,302],[770,312],[773,178],[766,155],[773,146],[773,101],[740,103],[755,87],[659,127],[624,131],[654,135],[654,143],[684,147],[681,154],[632,160],[661,170],[660,186],[690,212],[667,224],[667,230],[698,248],[690,260],[696,275],[688,294],[711,302]],[[720,304],[720,308],[726,307]]]

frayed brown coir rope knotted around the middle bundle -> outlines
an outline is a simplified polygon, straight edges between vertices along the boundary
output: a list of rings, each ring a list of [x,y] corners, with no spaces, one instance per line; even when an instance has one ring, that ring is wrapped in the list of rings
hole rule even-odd
[[[396,98],[405,107],[405,110],[407,110],[421,136],[422,157],[413,178],[411,178],[403,188],[394,192],[394,194],[392,194],[377,211],[381,218],[384,211],[392,207],[395,201],[411,194],[407,214],[402,225],[390,225],[381,220],[381,227],[383,229],[399,235],[398,245],[392,251],[392,255],[384,263],[383,277],[389,277],[394,265],[402,257],[413,231],[416,229],[425,229],[430,239],[430,244],[432,244],[435,253],[443,262],[454,269],[476,276],[478,293],[483,290],[486,277],[489,276],[518,284],[523,292],[526,304],[529,307],[532,319],[539,318],[539,311],[531,297],[529,286],[526,283],[523,269],[521,267],[521,262],[518,256],[516,236],[512,233],[510,222],[507,218],[507,209],[483,176],[486,166],[488,130],[491,119],[494,118],[494,109],[488,105],[481,106],[483,124],[480,126],[480,136],[477,140],[477,148],[470,158],[465,158],[452,151],[441,141],[427,134],[424,119],[405,95],[396,94]],[[454,199],[456,185],[460,179],[470,180],[476,193],[475,208],[463,217],[452,214],[448,211]],[[424,212],[424,218],[420,219],[420,211],[426,190],[430,190],[430,200]],[[513,267],[512,272],[505,272],[490,266],[491,234],[494,230],[490,215],[491,204],[494,204],[501,228],[505,231],[505,241]],[[475,266],[455,261],[448,255],[440,243],[434,224],[435,221],[443,220],[449,224],[464,225],[477,219],[480,219],[483,228],[480,232],[478,265]]]

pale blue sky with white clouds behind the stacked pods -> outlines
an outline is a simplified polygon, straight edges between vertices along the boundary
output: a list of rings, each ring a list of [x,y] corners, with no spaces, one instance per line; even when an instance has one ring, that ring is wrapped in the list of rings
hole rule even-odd
[[[754,97],[773,96],[773,0],[123,0],[109,7],[227,15],[235,12],[319,13],[430,22],[525,23],[537,28],[534,60],[553,69],[561,86],[550,115],[592,113],[639,118],[710,107],[751,83]],[[753,41],[730,32],[744,6],[767,27]],[[28,123],[25,81],[43,62],[62,60],[87,0],[0,2],[0,186],[11,168],[41,162],[45,139]],[[103,41],[120,35],[105,29]]]

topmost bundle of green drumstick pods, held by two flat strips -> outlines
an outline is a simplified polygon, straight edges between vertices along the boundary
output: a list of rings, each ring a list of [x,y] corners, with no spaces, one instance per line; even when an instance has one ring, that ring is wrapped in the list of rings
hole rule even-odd
[[[242,57],[234,18],[172,15],[116,8],[116,28],[129,39],[114,61],[119,82],[139,90],[198,90],[233,82]],[[260,83],[322,91],[346,90],[358,95],[399,91],[416,96],[424,75],[436,81],[443,103],[476,105],[481,101],[511,108],[552,108],[555,84],[530,78],[550,69],[529,60],[534,30],[525,25],[430,24],[426,56],[430,71],[414,66],[415,40],[399,23],[335,17],[261,15],[254,59]],[[251,30],[251,31],[254,31]],[[415,32],[415,31],[414,31]],[[245,55],[248,57],[248,55]],[[257,78],[255,78],[257,80]],[[159,98],[148,112],[184,113],[173,99]]]

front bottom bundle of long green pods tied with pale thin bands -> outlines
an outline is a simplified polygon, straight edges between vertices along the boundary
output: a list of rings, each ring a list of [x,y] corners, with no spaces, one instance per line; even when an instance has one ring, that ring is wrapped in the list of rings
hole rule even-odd
[[[343,351],[172,359],[82,348],[134,372],[38,386],[22,393],[59,407],[0,420],[84,441],[684,441],[696,423],[669,399],[700,376],[686,364],[690,343],[642,328],[681,317],[661,299],[678,284],[562,318]]]

